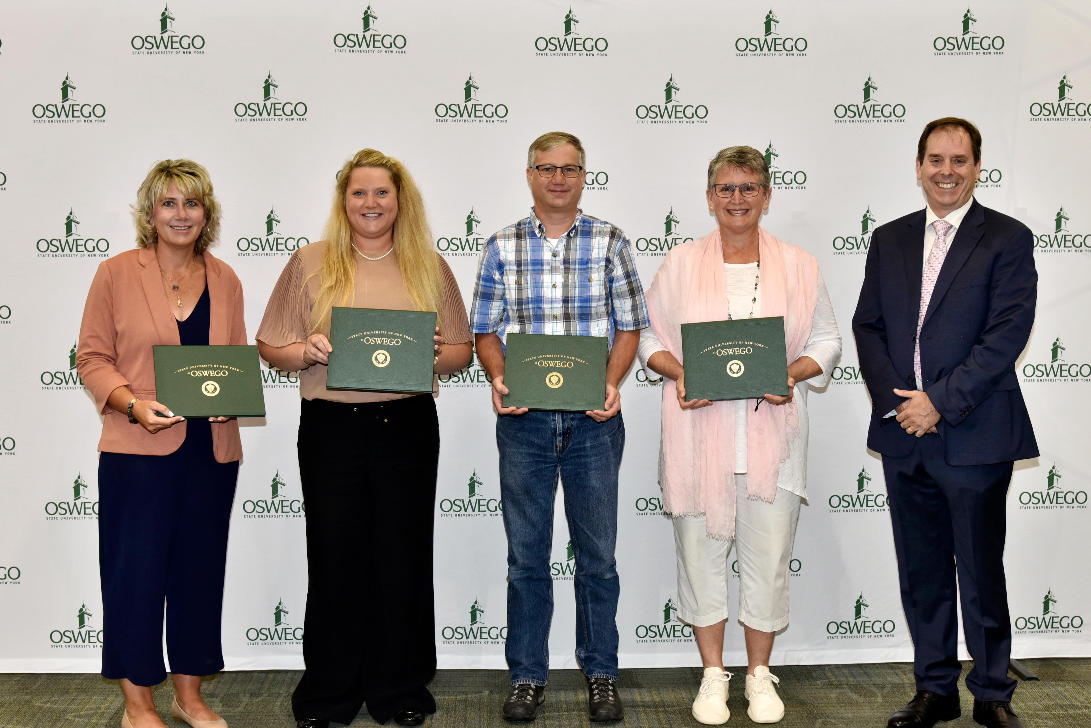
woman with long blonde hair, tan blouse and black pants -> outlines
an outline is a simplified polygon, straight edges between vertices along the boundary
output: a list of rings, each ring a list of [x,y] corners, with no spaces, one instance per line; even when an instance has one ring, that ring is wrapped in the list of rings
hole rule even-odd
[[[435,311],[435,373],[470,362],[466,308],[420,191],[375,150],[341,168],[323,240],[288,261],[256,339],[266,361],[300,371],[309,577],[297,725],[349,724],[367,703],[379,723],[415,726],[435,712],[425,685],[435,672],[439,389],[435,379],[432,396],[327,389],[335,306]],[[386,610],[392,595],[399,601]]]

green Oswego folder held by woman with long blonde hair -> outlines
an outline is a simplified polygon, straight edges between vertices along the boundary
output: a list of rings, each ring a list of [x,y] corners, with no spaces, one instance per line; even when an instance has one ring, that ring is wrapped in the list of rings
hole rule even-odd
[[[431,392],[433,336],[435,311],[334,307],[326,387]]]

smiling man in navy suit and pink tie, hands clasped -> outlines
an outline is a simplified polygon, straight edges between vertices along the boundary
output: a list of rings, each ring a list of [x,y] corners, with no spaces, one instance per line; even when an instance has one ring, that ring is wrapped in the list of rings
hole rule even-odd
[[[959,715],[961,595],[973,718],[1021,728],[1007,675],[1005,500],[1014,462],[1038,455],[1015,362],[1034,323],[1033,236],[981,205],[981,133],[928,123],[916,150],[927,207],[875,229],[852,319],[883,456],[916,695],[889,728]],[[956,589],[956,572],[958,589]]]

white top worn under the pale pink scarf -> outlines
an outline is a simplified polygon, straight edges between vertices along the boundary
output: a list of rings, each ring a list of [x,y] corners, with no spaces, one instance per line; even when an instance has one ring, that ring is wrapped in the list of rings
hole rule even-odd
[[[757,263],[724,263],[723,277],[727,295],[728,310],[732,319],[747,319],[751,315],[751,306],[754,307],[754,318],[762,315],[762,287],[754,290],[754,279],[757,276]],[[757,300],[752,300],[756,298]],[[651,327],[642,330],[640,346],[637,355],[640,358],[640,366],[648,368],[648,359],[656,351],[666,351],[659,337],[656,336]],[[822,273],[818,274],[818,299],[815,305],[814,320],[811,322],[811,336],[806,346],[803,347],[801,357],[811,357],[822,368],[822,373],[803,382],[795,383],[795,403],[800,410],[800,434],[792,442],[788,461],[780,466],[780,476],[777,478],[777,487],[795,493],[801,498],[806,498],[806,453],[807,435],[810,427],[807,423],[807,391],[814,386],[825,386],[829,381],[829,374],[834,370],[837,360],[841,357],[841,334],[837,329],[837,320],[834,317],[834,306],[829,300],[829,293],[826,290],[826,283]],[[735,473],[746,473],[746,413],[754,409],[757,399],[735,401]],[[664,405],[667,406],[667,405]],[[770,406],[768,403],[765,406]],[[660,445],[662,447],[662,445]]]

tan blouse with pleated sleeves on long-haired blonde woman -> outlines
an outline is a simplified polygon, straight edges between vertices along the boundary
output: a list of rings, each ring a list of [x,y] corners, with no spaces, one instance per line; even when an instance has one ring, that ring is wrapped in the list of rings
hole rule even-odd
[[[254,336],[269,346],[287,346],[307,342],[308,326],[311,321],[311,307],[319,295],[319,275],[307,276],[322,267],[325,254],[325,241],[312,242],[297,250],[280,278],[273,288],[269,302],[265,307],[265,317]],[[368,261],[356,258],[356,300],[352,306],[361,309],[413,309],[412,301],[406,293],[398,270],[396,253],[381,261]],[[446,281],[443,299],[440,302],[440,335],[445,344],[465,344],[473,341],[470,334],[469,321],[466,318],[466,306],[463,303],[458,282],[447,262],[440,259],[443,277]],[[303,282],[307,281],[307,288]],[[446,322],[446,325],[444,325]],[[415,396],[401,392],[360,392],[356,390],[327,390],[326,365],[316,363],[299,373],[299,394],[304,399],[328,399],[331,402],[386,402]],[[432,395],[440,392],[437,378],[432,379]]]

